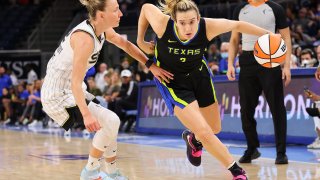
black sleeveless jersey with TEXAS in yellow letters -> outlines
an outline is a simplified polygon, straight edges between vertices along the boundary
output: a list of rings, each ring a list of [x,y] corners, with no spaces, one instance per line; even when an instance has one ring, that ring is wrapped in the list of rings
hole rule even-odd
[[[157,38],[157,64],[173,73],[189,73],[201,66],[208,42],[203,18],[200,19],[196,35],[187,41],[179,39],[175,23],[169,19],[165,33]]]

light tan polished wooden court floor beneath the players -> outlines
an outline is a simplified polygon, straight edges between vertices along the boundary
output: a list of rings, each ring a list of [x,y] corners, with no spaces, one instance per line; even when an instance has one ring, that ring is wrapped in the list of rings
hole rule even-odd
[[[0,179],[79,179],[91,140],[59,135],[0,129]],[[133,180],[230,180],[231,175],[214,158],[204,153],[200,167],[191,166],[184,149],[138,144],[118,144],[118,167]],[[235,156],[239,159],[239,156]],[[290,162],[275,165],[273,159],[259,158],[242,165],[249,179],[320,179],[320,164]]]

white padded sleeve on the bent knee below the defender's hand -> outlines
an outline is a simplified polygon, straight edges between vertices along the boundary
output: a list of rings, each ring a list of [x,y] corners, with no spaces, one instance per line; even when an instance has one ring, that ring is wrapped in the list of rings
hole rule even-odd
[[[93,137],[92,144],[95,148],[105,152],[108,146],[117,139],[120,119],[114,112],[94,102],[90,102],[88,108],[101,126]]]

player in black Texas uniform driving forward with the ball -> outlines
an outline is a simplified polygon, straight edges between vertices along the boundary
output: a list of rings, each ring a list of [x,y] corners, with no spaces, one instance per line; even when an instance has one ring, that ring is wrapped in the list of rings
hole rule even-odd
[[[189,161],[199,166],[202,145],[228,168],[234,179],[247,179],[245,171],[233,160],[228,149],[215,136],[221,130],[218,102],[212,73],[204,59],[208,42],[228,31],[261,36],[268,31],[246,22],[201,18],[191,0],[166,0],[160,8],[143,5],[138,22],[138,46],[155,54],[154,62],[171,72],[170,83],[156,80],[171,112],[191,131],[184,131]],[[156,45],[144,40],[148,25],[157,35]]]

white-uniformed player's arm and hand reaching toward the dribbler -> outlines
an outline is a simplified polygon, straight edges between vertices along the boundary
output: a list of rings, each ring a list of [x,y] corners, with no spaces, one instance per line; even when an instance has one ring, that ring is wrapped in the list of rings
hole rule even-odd
[[[146,64],[148,61],[147,56],[136,45],[132,44],[130,41],[116,33],[112,28],[106,31],[106,39],[107,41],[124,50],[140,63]],[[169,83],[169,80],[173,79],[173,75],[171,73],[159,68],[155,64],[152,64],[149,69],[159,81],[164,80]]]

